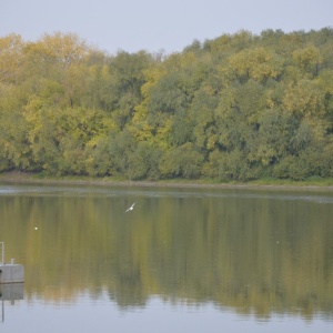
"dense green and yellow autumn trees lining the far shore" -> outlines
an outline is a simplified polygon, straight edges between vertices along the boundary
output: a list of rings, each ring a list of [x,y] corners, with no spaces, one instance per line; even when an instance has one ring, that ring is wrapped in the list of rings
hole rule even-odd
[[[239,31],[108,54],[0,38],[0,173],[128,180],[333,176],[333,29]]]

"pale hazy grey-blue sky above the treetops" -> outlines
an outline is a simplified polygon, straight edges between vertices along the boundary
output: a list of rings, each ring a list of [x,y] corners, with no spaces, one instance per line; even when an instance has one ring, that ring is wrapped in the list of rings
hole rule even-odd
[[[0,37],[74,32],[110,53],[170,53],[241,29],[320,30],[332,13],[333,0],[0,0]]]

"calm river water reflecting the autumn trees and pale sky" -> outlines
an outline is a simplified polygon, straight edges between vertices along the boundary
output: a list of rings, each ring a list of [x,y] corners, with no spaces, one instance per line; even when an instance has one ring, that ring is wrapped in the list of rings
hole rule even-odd
[[[0,242],[0,332],[333,330],[329,191],[2,183]]]

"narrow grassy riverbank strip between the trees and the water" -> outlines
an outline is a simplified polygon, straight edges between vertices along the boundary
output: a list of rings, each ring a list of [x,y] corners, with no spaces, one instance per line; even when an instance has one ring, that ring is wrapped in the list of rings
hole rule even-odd
[[[42,184],[82,184],[82,185],[109,185],[109,186],[172,186],[172,188],[264,188],[264,189],[317,189],[333,191],[333,179],[312,178],[305,181],[291,181],[278,179],[262,179],[251,182],[222,183],[212,179],[200,180],[159,180],[159,181],[129,181],[115,176],[51,176],[41,173],[29,172],[2,172],[2,183],[42,183]]]

